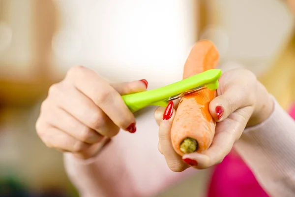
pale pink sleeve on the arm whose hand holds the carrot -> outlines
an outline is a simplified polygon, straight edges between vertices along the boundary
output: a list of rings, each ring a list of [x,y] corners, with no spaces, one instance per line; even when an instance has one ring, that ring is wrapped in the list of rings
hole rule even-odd
[[[270,196],[295,197],[295,121],[275,100],[271,116],[235,147]]]

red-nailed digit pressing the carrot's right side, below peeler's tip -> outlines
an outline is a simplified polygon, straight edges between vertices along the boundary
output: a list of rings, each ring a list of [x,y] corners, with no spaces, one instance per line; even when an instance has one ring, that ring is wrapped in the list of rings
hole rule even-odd
[[[244,79],[229,80],[227,76],[222,76],[219,84],[219,96],[209,104],[210,113],[216,121],[223,121],[237,109],[254,104],[252,86]]]

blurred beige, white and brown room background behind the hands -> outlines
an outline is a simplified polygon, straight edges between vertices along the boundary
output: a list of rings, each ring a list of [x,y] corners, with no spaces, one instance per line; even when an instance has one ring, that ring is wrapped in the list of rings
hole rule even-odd
[[[279,0],[0,0],[0,197],[77,196],[61,153],[43,145],[34,126],[48,88],[69,67],[88,66],[113,81],[128,78],[109,67],[182,69],[193,43],[208,38],[222,69],[241,64],[260,75],[292,28]],[[202,197],[209,175],[203,170],[160,196],[190,188]]]

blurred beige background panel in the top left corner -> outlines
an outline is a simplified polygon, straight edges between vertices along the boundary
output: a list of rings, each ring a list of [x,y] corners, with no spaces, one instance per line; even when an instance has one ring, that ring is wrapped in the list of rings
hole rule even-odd
[[[29,75],[34,42],[31,0],[1,0],[0,76]]]

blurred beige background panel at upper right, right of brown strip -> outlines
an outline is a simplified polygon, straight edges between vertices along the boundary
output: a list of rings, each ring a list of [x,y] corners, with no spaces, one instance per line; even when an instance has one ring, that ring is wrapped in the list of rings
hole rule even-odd
[[[215,1],[220,13],[215,40],[223,50],[223,60],[237,61],[260,73],[293,27],[288,7],[281,0]]]

